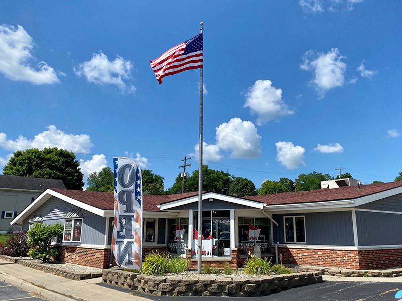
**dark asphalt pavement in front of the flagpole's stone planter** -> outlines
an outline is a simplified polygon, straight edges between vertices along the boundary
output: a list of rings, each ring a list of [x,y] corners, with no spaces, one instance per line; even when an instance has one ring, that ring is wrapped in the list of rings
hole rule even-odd
[[[110,284],[99,285],[120,291],[133,292]],[[309,286],[300,286],[279,293],[262,297],[189,297],[189,296],[150,296],[144,297],[155,301],[386,301],[396,300],[395,293],[402,289],[401,283],[392,282],[337,282],[325,281]],[[141,293],[135,292],[136,295]],[[206,298],[208,300],[206,300]]]

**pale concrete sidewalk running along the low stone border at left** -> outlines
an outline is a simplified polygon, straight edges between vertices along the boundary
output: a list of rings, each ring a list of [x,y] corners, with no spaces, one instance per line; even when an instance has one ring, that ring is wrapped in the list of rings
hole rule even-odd
[[[31,283],[42,290],[56,292],[64,296],[59,295],[60,298],[57,299],[57,296],[49,298],[49,296],[46,295],[46,298],[53,299],[53,301],[66,300],[66,296],[87,301],[110,301],[114,299],[118,299],[119,301],[144,301],[144,297],[134,296],[127,292],[109,289],[93,283],[99,280],[69,280],[61,276],[45,273],[0,259],[0,279],[6,282],[8,282],[7,280],[14,280],[15,282],[16,278],[29,282],[20,285],[23,289],[30,290],[27,288],[29,288]],[[12,284],[15,285],[15,283]],[[22,286],[25,286],[25,288]]]

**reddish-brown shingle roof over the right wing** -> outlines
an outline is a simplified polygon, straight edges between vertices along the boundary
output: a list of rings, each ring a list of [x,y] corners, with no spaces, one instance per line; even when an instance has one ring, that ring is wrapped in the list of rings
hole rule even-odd
[[[281,205],[293,203],[310,203],[325,201],[340,201],[365,197],[392,188],[401,187],[402,182],[390,182],[370,185],[340,187],[334,189],[317,189],[310,191],[287,192],[261,196],[244,197],[244,199],[262,202],[267,205]]]

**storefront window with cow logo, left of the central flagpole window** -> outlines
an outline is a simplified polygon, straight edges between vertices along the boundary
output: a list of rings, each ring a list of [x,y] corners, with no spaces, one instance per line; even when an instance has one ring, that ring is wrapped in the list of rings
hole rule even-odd
[[[188,245],[188,218],[168,219],[169,244],[171,254],[185,254]]]

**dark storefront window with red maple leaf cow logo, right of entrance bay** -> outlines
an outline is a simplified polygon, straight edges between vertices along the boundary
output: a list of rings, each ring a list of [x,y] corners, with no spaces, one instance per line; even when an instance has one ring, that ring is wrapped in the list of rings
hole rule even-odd
[[[262,254],[270,254],[269,224],[267,218],[239,217],[239,253],[253,251],[259,245]]]

